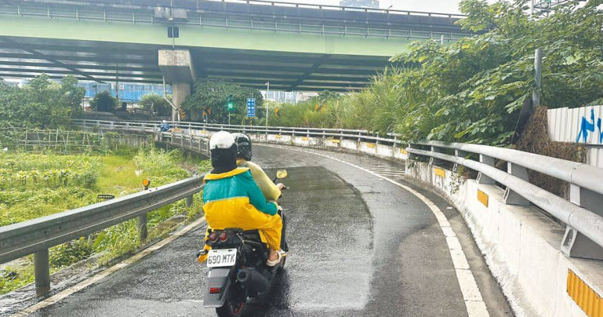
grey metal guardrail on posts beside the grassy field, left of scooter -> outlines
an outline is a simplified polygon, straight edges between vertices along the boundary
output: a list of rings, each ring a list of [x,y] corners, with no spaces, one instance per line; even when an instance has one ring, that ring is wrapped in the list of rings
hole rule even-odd
[[[36,293],[45,295],[50,290],[48,248],[135,217],[138,217],[141,240],[144,240],[148,213],[185,198],[186,205],[190,206],[193,194],[201,190],[202,177],[195,176],[110,201],[0,227],[0,263],[33,253]]]

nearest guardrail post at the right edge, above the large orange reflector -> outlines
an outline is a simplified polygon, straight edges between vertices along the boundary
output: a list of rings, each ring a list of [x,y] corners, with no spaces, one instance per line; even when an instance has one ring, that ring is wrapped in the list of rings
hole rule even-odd
[[[569,201],[603,216],[603,195],[594,191],[570,184]],[[565,228],[561,251],[568,257],[603,259],[603,248],[569,225]]]

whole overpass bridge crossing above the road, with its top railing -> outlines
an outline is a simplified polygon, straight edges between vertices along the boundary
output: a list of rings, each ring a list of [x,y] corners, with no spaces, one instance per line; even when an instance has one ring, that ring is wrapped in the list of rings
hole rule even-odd
[[[356,90],[413,40],[469,35],[455,25],[460,18],[259,0],[3,0],[0,78],[46,72],[98,82],[165,79],[183,97],[195,78],[259,89],[270,81],[275,90]],[[160,50],[183,55],[167,56],[166,64]]]

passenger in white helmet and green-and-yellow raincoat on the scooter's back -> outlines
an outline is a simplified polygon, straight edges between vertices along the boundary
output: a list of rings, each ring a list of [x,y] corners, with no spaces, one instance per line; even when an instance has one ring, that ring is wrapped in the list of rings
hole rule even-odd
[[[207,224],[213,229],[258,229],[270,249],[266,265],[275,266],[284,255],[280,250],[283,222],[277,214],[278,205],[266,201],[249,168],[237,167],[237,145],[231,133],[212,135],[209,149],[214,169],[204,179]]]

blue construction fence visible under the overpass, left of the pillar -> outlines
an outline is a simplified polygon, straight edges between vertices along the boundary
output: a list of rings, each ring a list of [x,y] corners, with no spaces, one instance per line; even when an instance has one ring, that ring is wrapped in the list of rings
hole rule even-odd
[[[141,101],[143,95],[156,93],[163,95],[163,85],[160,83],[117,83],[119,100],[125,102]],[[96,93],[107,90],[115,97],[115,83],[78,83],[77,86],[86,89],[86,97],[93,98]],[[166,85],[166,92],[171,95],[171,87]]]

